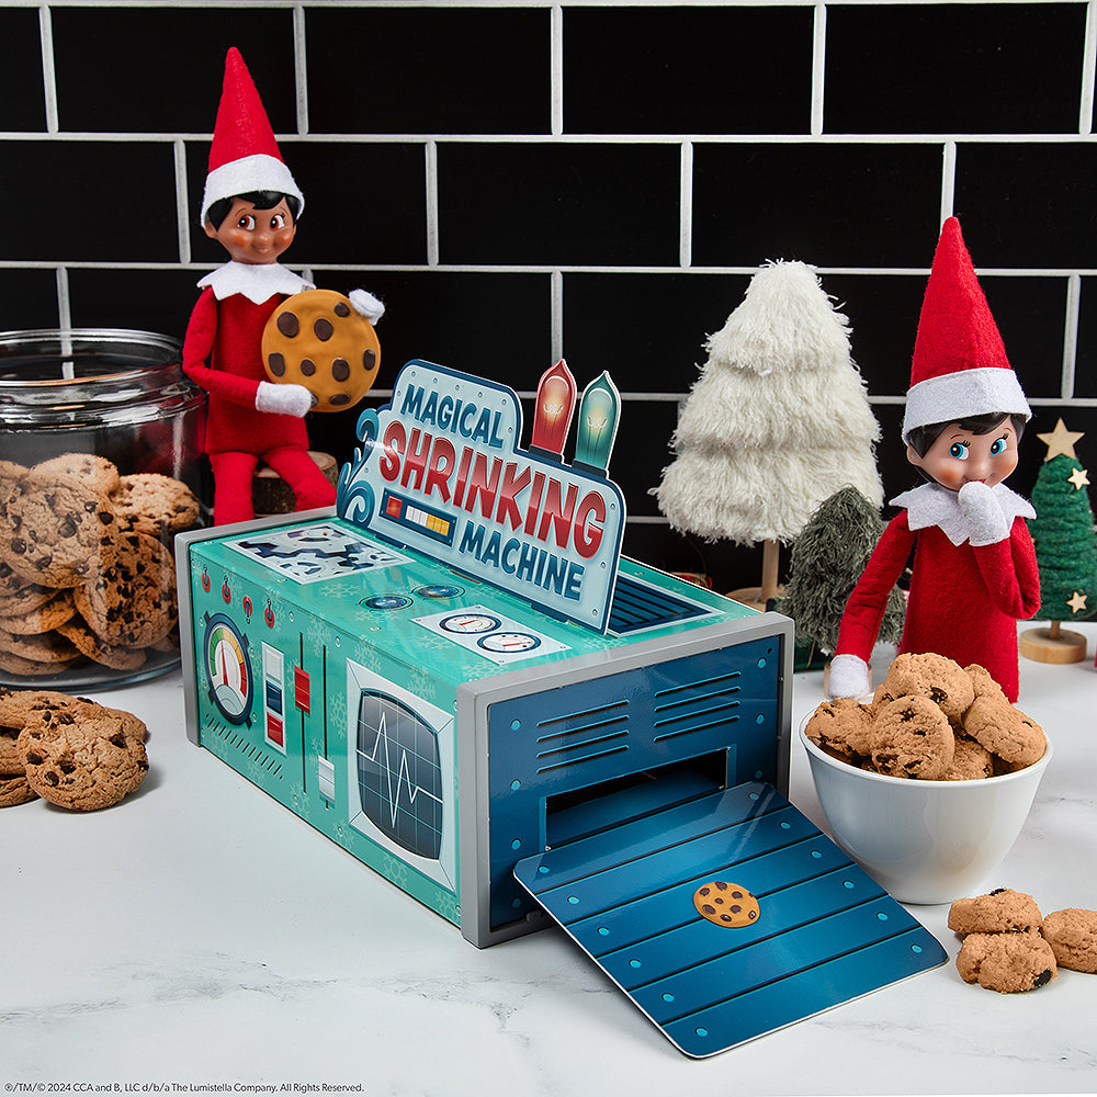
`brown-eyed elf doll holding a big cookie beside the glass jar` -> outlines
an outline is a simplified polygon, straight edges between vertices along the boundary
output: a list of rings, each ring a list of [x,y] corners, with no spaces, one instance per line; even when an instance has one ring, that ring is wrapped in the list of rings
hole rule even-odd
[[[251,479],[264,461],[293,489],[298,510],[335,502],[335,488],[308,454],[303,385],[267,380],[260,352],[267,321],[312,283],[279,263],[293,242],[305,200],[279,151],[267,112],[239,52],[225,80],[200,223],[229,262],[197,284],[202,294],[183,342],[183,370],[210,394],[206,453],[214,475],[214,522],[253,517]],[[371,320],[383,306],[355,290],[351,303]]]

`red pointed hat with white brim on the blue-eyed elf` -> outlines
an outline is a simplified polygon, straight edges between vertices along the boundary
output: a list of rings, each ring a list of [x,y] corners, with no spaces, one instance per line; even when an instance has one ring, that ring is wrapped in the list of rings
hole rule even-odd
[[[1032,417],[975,278],[960,222],[949,217],[918,318],[903,441],[909,441],[916,427],[994,411]]]

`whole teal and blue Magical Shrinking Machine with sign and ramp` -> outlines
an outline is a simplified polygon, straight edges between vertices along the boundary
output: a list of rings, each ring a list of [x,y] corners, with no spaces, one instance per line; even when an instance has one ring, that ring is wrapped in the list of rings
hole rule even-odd
[[[785,799],[792,622],[621,557],[620,399],[566,464],[574,400],[522,449],[511,389],[409,362],[333,513],[180,536],[189,737],[478,947],[556,920],[689,1055],[943,962]]]

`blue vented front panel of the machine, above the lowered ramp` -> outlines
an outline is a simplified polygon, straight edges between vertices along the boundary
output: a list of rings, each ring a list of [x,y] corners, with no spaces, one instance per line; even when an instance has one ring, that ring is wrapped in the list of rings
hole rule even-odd
[[[516,859],[548,844],[550,798],[721,751],[725,769],[708,788],[681,788],[678,769],[654,778],[646,794],[666,806],[712,788],[776,782],[780,671],[781,641],[770,636],[494,703],[493,928],[535,909],[511,870]],[[592,798],[592,810],[600,799]]]

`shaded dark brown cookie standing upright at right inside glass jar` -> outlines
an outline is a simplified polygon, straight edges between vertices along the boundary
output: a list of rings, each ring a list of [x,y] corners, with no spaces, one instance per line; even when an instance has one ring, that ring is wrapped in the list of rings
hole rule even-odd
[[[118,539],[115,561],[92,568],[72,597],[102,641],[113,647],[147,647],[176,623],[174,590],[169,550],[147,533],[126,533]]]

